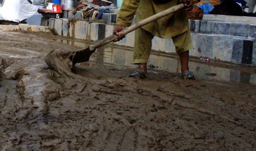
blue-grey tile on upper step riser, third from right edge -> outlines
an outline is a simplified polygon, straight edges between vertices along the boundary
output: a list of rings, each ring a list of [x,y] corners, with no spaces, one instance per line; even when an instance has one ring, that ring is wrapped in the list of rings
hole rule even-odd
[[[229,33],[230,33],[230,23],[214,22],[212,33],[213,34],[229,35]]]

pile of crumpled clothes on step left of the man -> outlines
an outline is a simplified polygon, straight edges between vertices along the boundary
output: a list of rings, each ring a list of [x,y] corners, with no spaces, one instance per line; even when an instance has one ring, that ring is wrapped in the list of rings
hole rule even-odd
[[[91,16],[92,19],[101,19],[103,13],[111,13],[110,9],[117,9],[115,4],[99,6],[92,2],[92,0],[81,0],[78,2],[77,7],[69,8],[66,11],[72,11],[72,13],[81,11],[83,19],[87,19],[88,16]]]

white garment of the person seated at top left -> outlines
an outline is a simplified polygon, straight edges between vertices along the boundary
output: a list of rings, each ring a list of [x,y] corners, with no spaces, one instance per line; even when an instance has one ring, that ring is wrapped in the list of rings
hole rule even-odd
[[[20,22],[33,16],[38,8],[27,0],[5,0],[0,7],[0,20]]]

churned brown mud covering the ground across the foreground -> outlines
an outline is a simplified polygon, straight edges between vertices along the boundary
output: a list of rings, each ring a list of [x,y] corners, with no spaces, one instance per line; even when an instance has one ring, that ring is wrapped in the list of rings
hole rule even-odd
[[[44,56],[79,47],[50,33],[0,34],[0,150],[256,150],[255,85],[164,71],[141,80],[97,62],[72,78]]]

